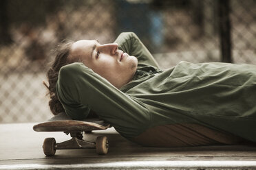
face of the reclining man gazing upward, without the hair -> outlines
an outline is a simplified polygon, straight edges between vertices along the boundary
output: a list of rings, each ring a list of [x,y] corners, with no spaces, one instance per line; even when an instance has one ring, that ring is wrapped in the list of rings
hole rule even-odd
[[[138,60],[118,49],[118,44],[104,44],[96,40],[78,40],[71,47],[70,55],[78,57],[85,66],[105,77],[120,88],[127,84],[137,69]]]

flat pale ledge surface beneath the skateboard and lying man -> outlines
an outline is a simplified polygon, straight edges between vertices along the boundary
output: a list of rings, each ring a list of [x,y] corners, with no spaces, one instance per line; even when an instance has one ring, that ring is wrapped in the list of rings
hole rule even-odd
[[[107,136],[109,153],[95,149],[57,150],[45,157],[43,140],[60,143],[70,136],[63,132],[34,132],[36,123],[0,125],[0,169],[256,169],[256,147],[204,146],[183,148],[142,147],[122,138],[113,127],[87,134]]]

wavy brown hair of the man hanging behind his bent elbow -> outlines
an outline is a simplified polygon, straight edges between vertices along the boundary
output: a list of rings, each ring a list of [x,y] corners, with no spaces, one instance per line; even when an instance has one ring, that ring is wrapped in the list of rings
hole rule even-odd
[[[74,41],[72,40],[64,40],[56,47],[55,53],[56,57],[55,60],[52,62],[52,66],[47,71],[47,79],[49,82],[49,86],[45,82],[43,84],[48,88],[50,101],[49,106],[50,110],[54,115],[65,112],[61,102],[58,100],[58,96],[56,95],[56,83],[58,81],[58,72],[60,71],[62,66],[70,64],[74,61],[74,59],[70,58],[70,48]]]

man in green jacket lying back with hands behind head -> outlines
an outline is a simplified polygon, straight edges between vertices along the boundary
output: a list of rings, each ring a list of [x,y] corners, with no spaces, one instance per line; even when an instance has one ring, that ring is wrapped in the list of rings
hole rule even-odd
[[[72,119],[93,110],[125,138],[154,147],[256,141],[256,66],[180,62],[161,71],[131,32],[113,44],[79,40],[63,56],[52,93]]]

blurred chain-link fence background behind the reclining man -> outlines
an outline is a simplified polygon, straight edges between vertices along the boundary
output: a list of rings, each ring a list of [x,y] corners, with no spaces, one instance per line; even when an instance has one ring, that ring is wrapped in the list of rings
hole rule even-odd
[[[45,73],[58,42],[135,32],[162,69],[256,64],[255,0],[1,0],[0,123],[52,117]]]

